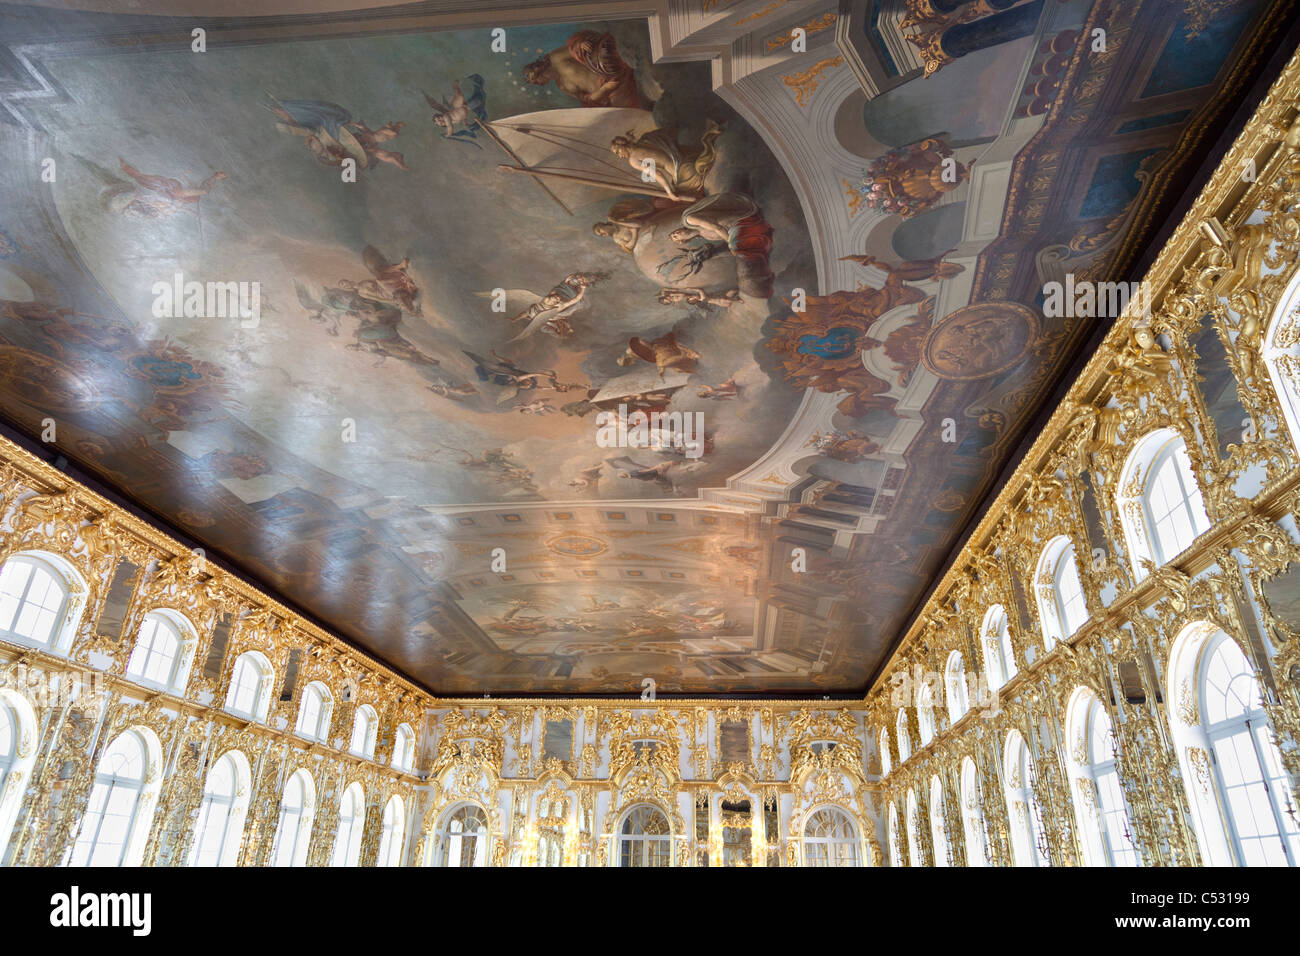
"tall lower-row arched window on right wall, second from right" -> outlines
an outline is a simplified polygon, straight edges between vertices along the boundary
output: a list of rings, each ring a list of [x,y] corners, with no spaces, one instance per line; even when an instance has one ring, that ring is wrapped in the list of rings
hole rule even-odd
[[[1067,763],[1084,860],[1089,866],[1138,866],[1106,708],[1096,693],[1080,687],[1066,708],[1066,726],[1072,741]]]

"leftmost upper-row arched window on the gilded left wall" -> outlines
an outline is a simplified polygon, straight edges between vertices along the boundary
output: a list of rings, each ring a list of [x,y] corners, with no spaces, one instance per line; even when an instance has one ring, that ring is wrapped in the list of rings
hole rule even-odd
[[[66,653],[86,601],[86,584],[64,558],[14,554],[0,567],[0,639]]]

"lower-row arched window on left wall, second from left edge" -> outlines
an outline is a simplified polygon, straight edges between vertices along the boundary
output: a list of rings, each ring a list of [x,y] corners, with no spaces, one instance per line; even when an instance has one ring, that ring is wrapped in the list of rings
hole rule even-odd
[[[122,731],[104,748],[70,865],[140,865],[161,762],[157,737],[142,727]]]

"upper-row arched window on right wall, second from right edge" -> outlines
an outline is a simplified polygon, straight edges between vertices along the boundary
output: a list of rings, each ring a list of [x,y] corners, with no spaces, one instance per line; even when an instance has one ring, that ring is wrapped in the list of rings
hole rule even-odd
[[[1187,444],[1173,428],[1143,436],[1124,462],[1119,488],[1119,518],[1138,580],[1147,576],[1143,558],[1167,564],[1210,528]]]

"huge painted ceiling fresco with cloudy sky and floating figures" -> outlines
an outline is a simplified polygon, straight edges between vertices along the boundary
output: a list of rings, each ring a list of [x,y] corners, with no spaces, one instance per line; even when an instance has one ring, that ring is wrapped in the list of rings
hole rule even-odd
[[[1196,7],[927,75],[868,4],[818,194],[760,103],[833,31],[724,98],[658,18],[0,7],[0,411],[434,692],[862,691],[1089,332],[1044,277],[1131,267],[1279,17]]]

